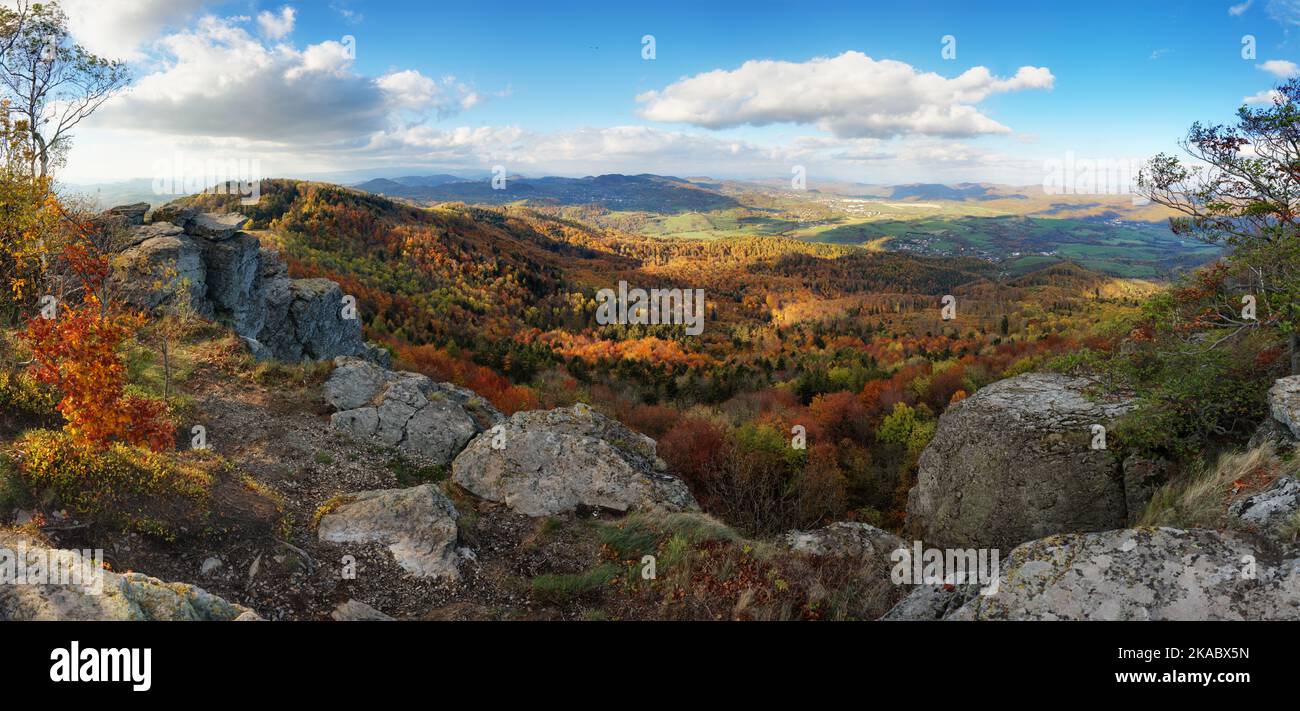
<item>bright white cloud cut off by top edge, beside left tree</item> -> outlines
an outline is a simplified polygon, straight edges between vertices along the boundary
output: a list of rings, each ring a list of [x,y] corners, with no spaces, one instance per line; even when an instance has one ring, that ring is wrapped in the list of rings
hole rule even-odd
[[[140,45],[183,23],[207,0],[61,0],[78,44],[114,60],[139,60]]]

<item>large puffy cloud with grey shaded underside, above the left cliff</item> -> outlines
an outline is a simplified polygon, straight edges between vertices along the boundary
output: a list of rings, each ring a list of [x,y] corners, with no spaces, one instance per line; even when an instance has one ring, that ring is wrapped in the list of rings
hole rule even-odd
[[[246,23],[208,16],[161,39],[162,68],[105,104],[96,125],[289,144],[364,142],[398,123],[399,112],[448,116],[477,101],[454,78],[434,82],[413,70],[364,77],[350,47],[272,47]]]

